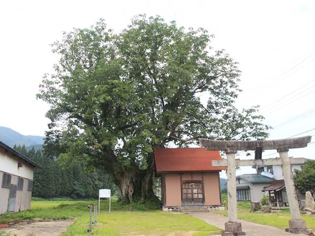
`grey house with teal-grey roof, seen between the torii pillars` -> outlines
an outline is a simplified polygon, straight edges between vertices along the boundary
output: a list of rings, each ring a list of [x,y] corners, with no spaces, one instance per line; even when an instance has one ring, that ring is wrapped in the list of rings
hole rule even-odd
[[[236,177],[237,201],[259,202],[264,193],[264,187],[270,185],[275,179],[260,174],[245,174]]]

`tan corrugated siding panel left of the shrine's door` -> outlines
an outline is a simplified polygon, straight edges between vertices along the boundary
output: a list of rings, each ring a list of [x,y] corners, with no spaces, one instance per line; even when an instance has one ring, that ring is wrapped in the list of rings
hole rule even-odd
[[[181,206],[181,175],[177,173],[165,174],[166,206]]]

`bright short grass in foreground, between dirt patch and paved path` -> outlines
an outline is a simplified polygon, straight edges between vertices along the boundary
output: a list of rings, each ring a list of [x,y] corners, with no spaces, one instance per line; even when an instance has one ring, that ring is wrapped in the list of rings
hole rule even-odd
[[[208,236],[218,235],[221,230],[186,214],[149,212],[112,212],[97,216],[94,235],[121,236]],[[85,236],[89,218],[84,215],[70,226],[63,236]]]

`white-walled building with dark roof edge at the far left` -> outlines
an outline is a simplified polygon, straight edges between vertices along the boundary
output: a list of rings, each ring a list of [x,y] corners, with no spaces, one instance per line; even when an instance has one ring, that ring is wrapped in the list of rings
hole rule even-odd
[[[31,159],[0,142],[0,214],[31,208],[35,167]]]

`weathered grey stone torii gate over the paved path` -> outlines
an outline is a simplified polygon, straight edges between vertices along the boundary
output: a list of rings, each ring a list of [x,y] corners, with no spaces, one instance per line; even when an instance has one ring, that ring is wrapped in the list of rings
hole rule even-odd
[[[227,204],[228,204],[228,222],[225,223],[225,230],[222,236],[245,235],[242,231],[242,225],[237,221],[237,200],[236,200],[236,176],[235,166],[254,166],[254,165],[282,165],[284,183],[289,202],[291,220],[289,228],[285,229],[290,233],[309,234],[311,230],[307,229],[306,223],[301,219],[295,185],[291,172],[291,163],[294,158],[289,158],[289,148],[305,148],[311,142],[312,136],[304,136],[292,139],[279,140],[259,140],[259,141],[218,141],[199,139],[202,147],[206,150],[223,150],[226,159],[212,161],[213,166],[227,166]],[[262,150],[277,149],[280,158],[261,159]],[[255,160],[235,160],[235,153],[238,150],[255,150]],[[259,155],[260,152],[260,155]],[[266,232],[266,234],[268,234]]]

